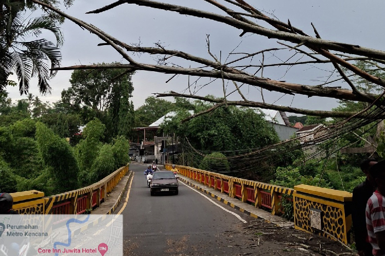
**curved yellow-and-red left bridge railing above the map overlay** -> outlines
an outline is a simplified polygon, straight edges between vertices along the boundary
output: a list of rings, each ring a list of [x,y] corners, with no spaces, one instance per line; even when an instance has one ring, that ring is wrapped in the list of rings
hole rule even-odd
[[[37,190],[11,193],[13,209],[19,214],[52,214],[53,223],[59,223],[64,221],[61,215],[84,214],[99,207],[127,172],[128,165],[92,185],[49,197]]]

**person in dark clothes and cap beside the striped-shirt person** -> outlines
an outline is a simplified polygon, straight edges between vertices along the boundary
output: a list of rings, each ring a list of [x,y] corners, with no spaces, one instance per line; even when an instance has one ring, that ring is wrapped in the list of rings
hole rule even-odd
[[[367,178],[353,189],[352,206],[355,210],[352,211],[352,221],[354,227],[354,240],[360,256],[373,255],[372,245],[368,241],[365,211],[368,200],[375,190],[375,184],[369,176],[369,169],[376,163],[377,160],[374,158],[368,158],[361,162],[360,168]]]

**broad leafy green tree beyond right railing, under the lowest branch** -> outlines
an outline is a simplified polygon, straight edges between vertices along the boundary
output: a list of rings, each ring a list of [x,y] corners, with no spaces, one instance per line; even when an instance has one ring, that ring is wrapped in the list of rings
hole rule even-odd
[[[196,112],[205,111],[211,103],[196,101]],[[203,151],[237,151],[257,148],[279,141],[277,133],[263,115],[250,108],[228,106],[218,108],[209,115],[202,115],[181,123],[189,116],[187,110],[178,110],[176,117],[162,125],[166,134],[187,137],[192,146]]]

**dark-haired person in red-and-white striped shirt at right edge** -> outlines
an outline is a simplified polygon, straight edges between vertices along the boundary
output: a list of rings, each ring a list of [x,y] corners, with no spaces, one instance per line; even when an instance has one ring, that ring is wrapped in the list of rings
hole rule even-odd
[[[379,256],[385,255],[385,160],[374,164],[369,174],[377,189],[367,204],[367,230],[372,253]]]

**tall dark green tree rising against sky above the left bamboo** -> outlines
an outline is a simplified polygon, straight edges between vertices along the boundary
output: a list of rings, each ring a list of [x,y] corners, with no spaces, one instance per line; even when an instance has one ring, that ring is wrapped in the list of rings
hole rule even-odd
[[[76,110],[84,123],[98,118],[106,125],[104,140],[123,135],[133,127],[132,73],[121,69],[75,70],[71,87],[62,92],[61,105]],[[123,75],[122,75],[123,73]]]

